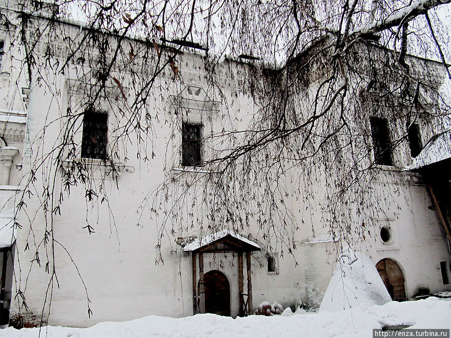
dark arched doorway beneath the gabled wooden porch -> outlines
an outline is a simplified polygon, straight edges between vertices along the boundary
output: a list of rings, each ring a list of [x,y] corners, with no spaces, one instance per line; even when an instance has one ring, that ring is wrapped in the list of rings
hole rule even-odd
[[[230,316],[229,280],[218,270],[208,271],[203,275],[205,289],[205,313]],[[198,284],[198,289],[200,288]]]

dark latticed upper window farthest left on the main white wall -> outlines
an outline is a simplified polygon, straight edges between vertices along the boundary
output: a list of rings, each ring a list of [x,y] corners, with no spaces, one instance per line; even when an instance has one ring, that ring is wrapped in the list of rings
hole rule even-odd
[[[108,114],[87,111],[83,116],[81,157],[105,160],[107,157]]]

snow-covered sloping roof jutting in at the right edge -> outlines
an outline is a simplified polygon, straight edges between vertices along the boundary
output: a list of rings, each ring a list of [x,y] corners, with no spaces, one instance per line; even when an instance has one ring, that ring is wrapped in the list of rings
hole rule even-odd
[[[432,163],[451,158],[451,133],[444,133],[433,136],[417,157],[413,159],[411,165],[404,170],[418,169]]]

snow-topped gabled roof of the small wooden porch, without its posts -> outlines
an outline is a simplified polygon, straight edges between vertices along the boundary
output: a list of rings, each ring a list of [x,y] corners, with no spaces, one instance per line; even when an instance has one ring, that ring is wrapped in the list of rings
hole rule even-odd
[[[183,251],[191,252],[250,252],[260,251],[260,246],[230,230],[222,230],[186,245]]]

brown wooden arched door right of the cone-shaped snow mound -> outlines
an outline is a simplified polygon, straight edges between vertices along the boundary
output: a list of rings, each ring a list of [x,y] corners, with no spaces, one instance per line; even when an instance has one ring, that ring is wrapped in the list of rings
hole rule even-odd
[[[384,258],[377,262],[376,269],[391,299],[397,301],[405,300],[404,275],[399,265],[390,258]]]

